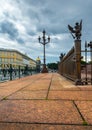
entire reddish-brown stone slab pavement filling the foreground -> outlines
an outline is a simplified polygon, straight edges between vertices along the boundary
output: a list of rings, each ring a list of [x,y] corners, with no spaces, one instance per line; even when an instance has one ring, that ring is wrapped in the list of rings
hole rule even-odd
[[[1,130],[92,129],[92,85],[75,86],[57,73],[37,74],[0,83],[2,98]]]

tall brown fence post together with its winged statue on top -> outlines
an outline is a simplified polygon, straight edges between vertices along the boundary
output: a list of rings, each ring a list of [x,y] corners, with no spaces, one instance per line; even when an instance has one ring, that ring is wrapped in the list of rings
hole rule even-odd
[[[81,31],[82,31],[82,20],[80,23],[76,22],[75,26],[68,25],[68,29],[75,39],[75,59],[76,59],[76,85],[82,85],[81,82]]]

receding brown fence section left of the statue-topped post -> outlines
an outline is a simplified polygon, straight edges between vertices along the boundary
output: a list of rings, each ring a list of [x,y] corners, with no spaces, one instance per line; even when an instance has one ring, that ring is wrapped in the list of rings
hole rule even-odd
[[[59,73],[69,79],[76,80],[76,62],[74,47],[63,57],[59,63]]]

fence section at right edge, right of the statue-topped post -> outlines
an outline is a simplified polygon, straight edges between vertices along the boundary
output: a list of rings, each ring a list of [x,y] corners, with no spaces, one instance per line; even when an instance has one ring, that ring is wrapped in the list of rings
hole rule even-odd
[[[81,50],[81,53],[85,58],[81,69],[81,79],[84,84],[91,83],[92,85],[92,42],[88,44],[85,42],[85,49]]]

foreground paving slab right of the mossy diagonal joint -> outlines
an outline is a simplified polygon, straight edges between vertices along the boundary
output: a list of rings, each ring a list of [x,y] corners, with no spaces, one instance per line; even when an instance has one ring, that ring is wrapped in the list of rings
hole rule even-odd
[[[92,101],[75,101],[75,103],[86,122],[92,125]]]

